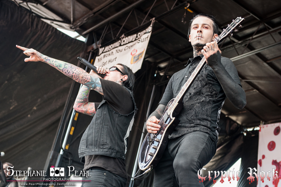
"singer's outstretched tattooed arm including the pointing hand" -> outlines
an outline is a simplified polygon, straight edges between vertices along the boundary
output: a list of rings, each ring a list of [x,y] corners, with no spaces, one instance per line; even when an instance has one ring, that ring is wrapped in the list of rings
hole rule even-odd
[[[23,53],[25,55],[29,56],[29,58],[24,59],[25,62],[28,62],[28,61],[45,62],[46,64],[49,64],[50,66],[59,70],[64,75],[72,78],[76,82],[83,84],[83,85],[87,85],[89,88],[91,88],[91,89],[99,92],[101,95],[103,95],[102,86],[100,83],[100,77],[98,75],[95,75],[95,76],[90,75],[82,68],[79,68],[77,66],[74,66],[73,64],[70,64],[70,63],[67,63],[64,61],[50,58],[46,55],[43,55],[43,54],[37,52],[34,49],[28,49],[25,47],[20,47],[18,45],[16,47],[18,47],[19,49],[22,49],[24,51]]]

